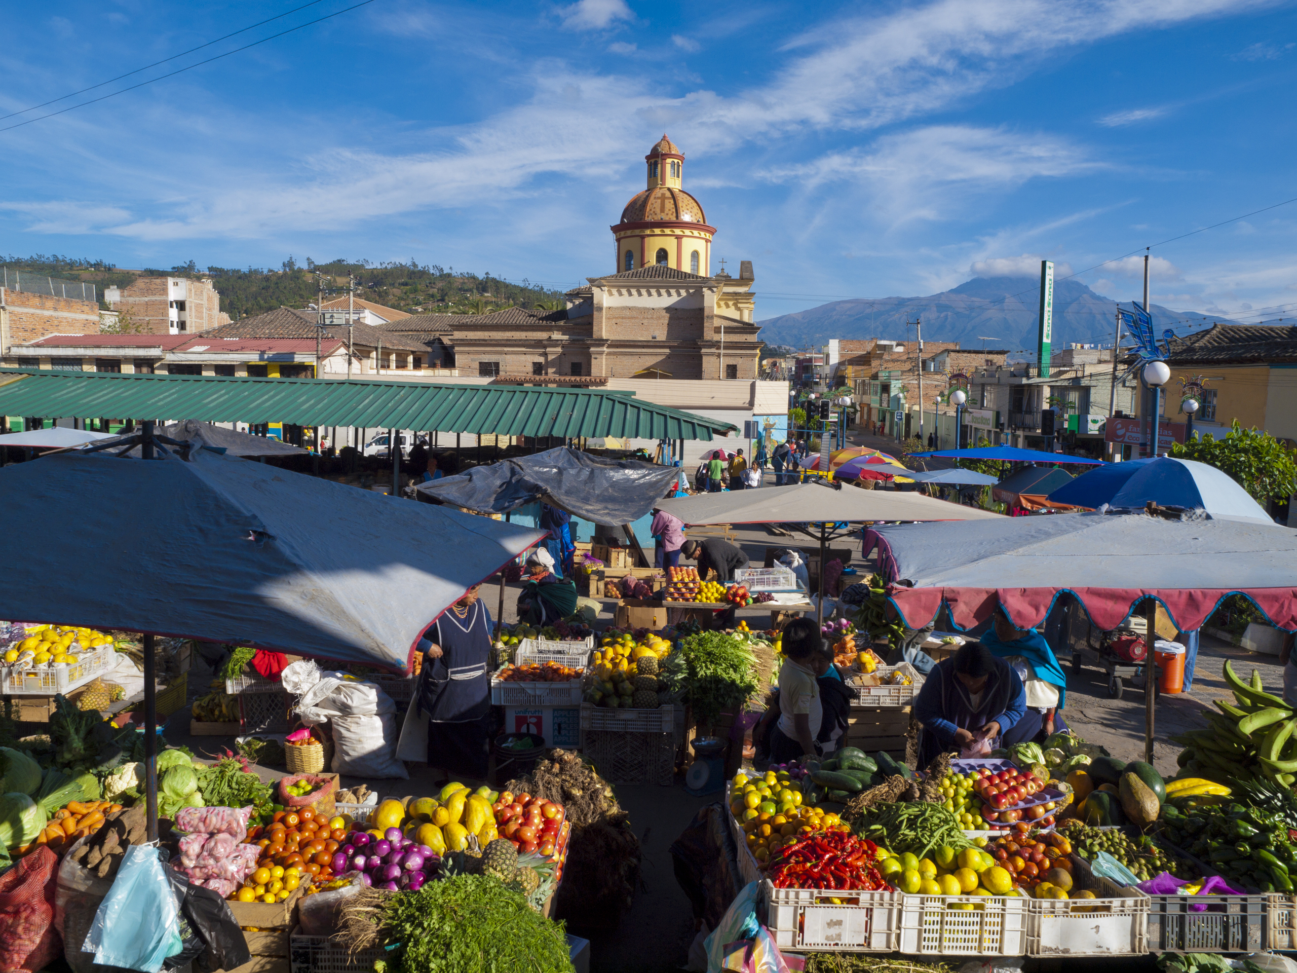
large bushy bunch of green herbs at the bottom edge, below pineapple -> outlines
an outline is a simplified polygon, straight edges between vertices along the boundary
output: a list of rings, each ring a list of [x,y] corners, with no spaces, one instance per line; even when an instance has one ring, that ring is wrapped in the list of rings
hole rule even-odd
[[[459,874],[390,895],[379,919],[397,944],[387,973],[572,973],[567,937],[493,876]]]

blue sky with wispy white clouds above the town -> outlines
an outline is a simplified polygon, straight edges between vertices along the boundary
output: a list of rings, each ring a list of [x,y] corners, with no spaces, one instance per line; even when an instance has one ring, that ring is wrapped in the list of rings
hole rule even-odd
[[[10,1],[0,114],[301,3]],[[613,270],[608,226],[667,131],[761,319],[1040,257],[1061,275],[1294,197],[1294,90],[1293,3],[374,0],[0,132],[0,253],[572,285]],[[1156,248],[1154,301],[1297,319],[1294,228],[1297,204]],[[1139,266],[1082,279],[1128,300]]]

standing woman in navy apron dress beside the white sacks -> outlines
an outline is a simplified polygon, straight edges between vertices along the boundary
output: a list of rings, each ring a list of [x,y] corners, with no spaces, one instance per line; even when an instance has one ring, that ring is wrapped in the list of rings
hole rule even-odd
[[[419,708],[428,717],[428,767],[447,780],[486,780],[490,732],[490,612],[473,585],[432,623]]]

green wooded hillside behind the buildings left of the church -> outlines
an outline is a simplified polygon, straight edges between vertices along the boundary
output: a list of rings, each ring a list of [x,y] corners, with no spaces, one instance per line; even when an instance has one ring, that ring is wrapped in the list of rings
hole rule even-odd
[[[235,320],[280,306],[305,307],[315,302],[319,298],[316,272],[331,279],[326,287],[333,288],[333,292],[326,292],[326,300],[346,293],[346,276],[350,272],[357,278],[357,297],[410,314],[481,313],[512,306],[532,307],[536,304],[546,304],[554,309],[563,306],[562,291],[523,287],[489,275],[477,276],[437,266],[419,266],[414,261],[375,266],[368,261],[336,259],[315,263],[307,258],[306,266],[300,267],[289,257],[280,270],[208,267],[205,271],[193,261],[170,270],[121,270],[104,261],[45,254],[0,257],[0,263],[65,280],[84,280],[96,284],[101,293],[105,287],[127,287],[139,276],[211,278],[220,293],[220,310]]]

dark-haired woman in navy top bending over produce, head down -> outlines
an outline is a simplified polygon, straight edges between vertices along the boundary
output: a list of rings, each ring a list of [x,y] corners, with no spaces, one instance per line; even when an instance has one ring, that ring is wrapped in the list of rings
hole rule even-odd
[[[1026,690],[1013,666],[981,642],[961,646],[933,667],[914,699],[914,717],[923,725],[918,765],[951,750],[990,752],[1025,710]]]

